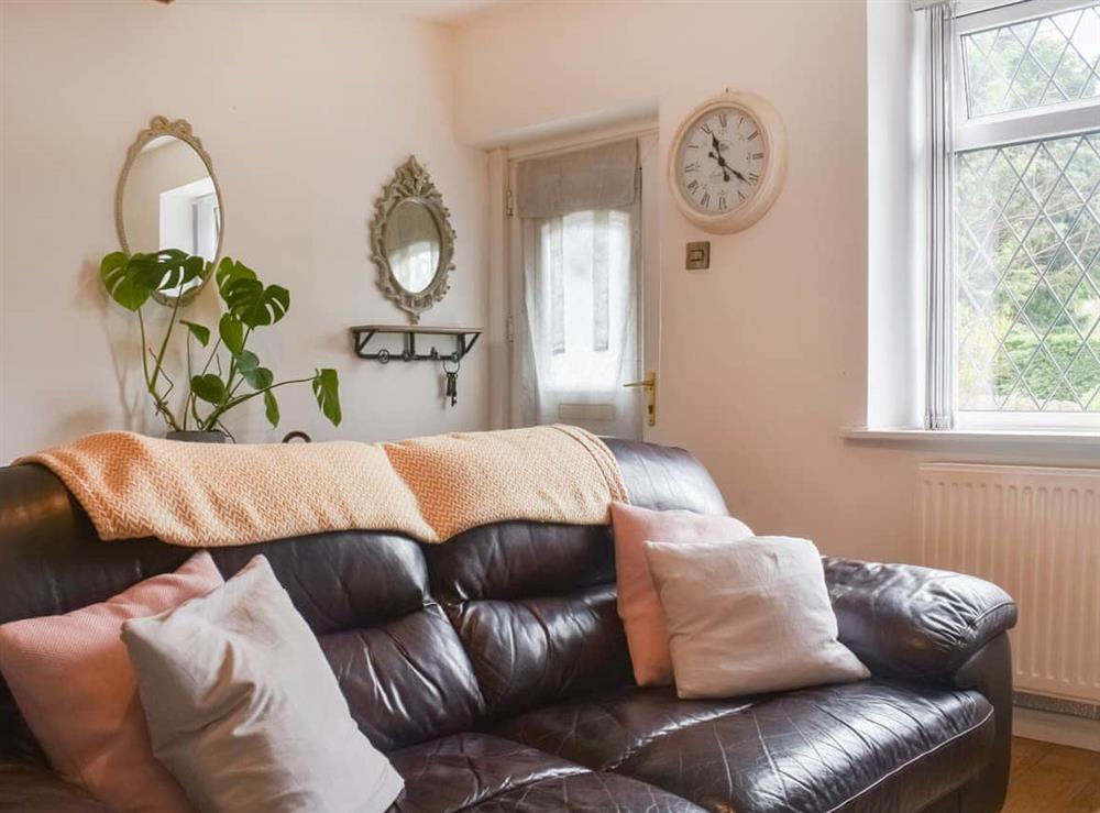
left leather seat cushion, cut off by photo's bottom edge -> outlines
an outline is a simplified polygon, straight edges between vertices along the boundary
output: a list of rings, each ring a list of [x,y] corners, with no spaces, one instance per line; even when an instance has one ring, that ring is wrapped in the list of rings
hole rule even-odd
[[[392,813],[698,809],[627,777],[594,773],[487,734],[455,734],[403,748],[389,761],[405,778]]]

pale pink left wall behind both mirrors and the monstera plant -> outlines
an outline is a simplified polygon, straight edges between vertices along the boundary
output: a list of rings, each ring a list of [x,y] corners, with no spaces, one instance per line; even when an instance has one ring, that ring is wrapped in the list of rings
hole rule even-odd
[[[0,36],[0,462],[88,431],[163,431],[142,392],[135,321],[96,273],[118,248],[127,149],[157,114],[188,119],[213,160],[226,252],[292,292],[289,316],[255,351],[280,377],[341,375],[339,429],[305,386],[282,391],[277,430],[258,399],[231,416],[241,439],[485,426],[484,354],[463,363],[451,408],[432,365],[360,361],[348,333],[406,321],[375,286],[367,224],[410,153],[459,235],[451,292],[425,322],[485,320],[487,162],[453,136],[448,29],[370,3],[4,0]],[[213,295],[186,318],[216,323]]]

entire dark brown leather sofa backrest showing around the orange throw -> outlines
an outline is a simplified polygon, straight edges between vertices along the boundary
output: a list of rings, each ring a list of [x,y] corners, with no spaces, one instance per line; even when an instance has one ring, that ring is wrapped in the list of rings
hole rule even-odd
[[[725,513],[686,452],[608,444],[634,504]],[[103,601],[193,552],[100,541],[53,474],[0,469],[0,623]],[[502,523],[441,545],[346,531],[211,553],[226,578],[268,558],[383,750],[630,680],[608,527]],[[0,738],[21,729],[0,682]]]

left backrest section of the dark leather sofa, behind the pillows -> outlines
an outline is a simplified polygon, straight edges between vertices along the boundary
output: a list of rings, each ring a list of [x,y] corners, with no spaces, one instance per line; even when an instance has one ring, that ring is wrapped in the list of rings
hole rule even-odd
[[[152,539],[100,541],[53,474],[0,469],[0,623],[103,601],[194,552]],[[428,591],[417,542],[349,531],[210,552],[227,579],[257,553],[267,557],[378,748],[468,730],[483,716],[470,660]],[[0,682],[0,737],[21,736],[14,700]],[[22,743],[4,745],[25,750]]]

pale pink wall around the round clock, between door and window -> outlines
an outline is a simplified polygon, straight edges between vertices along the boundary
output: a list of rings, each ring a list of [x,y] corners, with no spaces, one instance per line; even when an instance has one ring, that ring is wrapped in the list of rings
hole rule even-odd
[[[458,29],[455,122],[464,142],[499,145],[650,110],[663,163],[680,121],[708,97],[768,97],[787,122],[790,168],[751,229],[691,226],[662,166],[654,438],[702,458],[758,532],[912,560],[920,460],[1044,459],[842,437],[867,418],[868,21],[872,36],[888,30],[897,21],[869,11],[890,3],[908,13],[903,0],[505,4]],[[901,50],[877,51],[875,70],[906,65]],[[692,240],[711,241],[706,273],[684,271]]]

